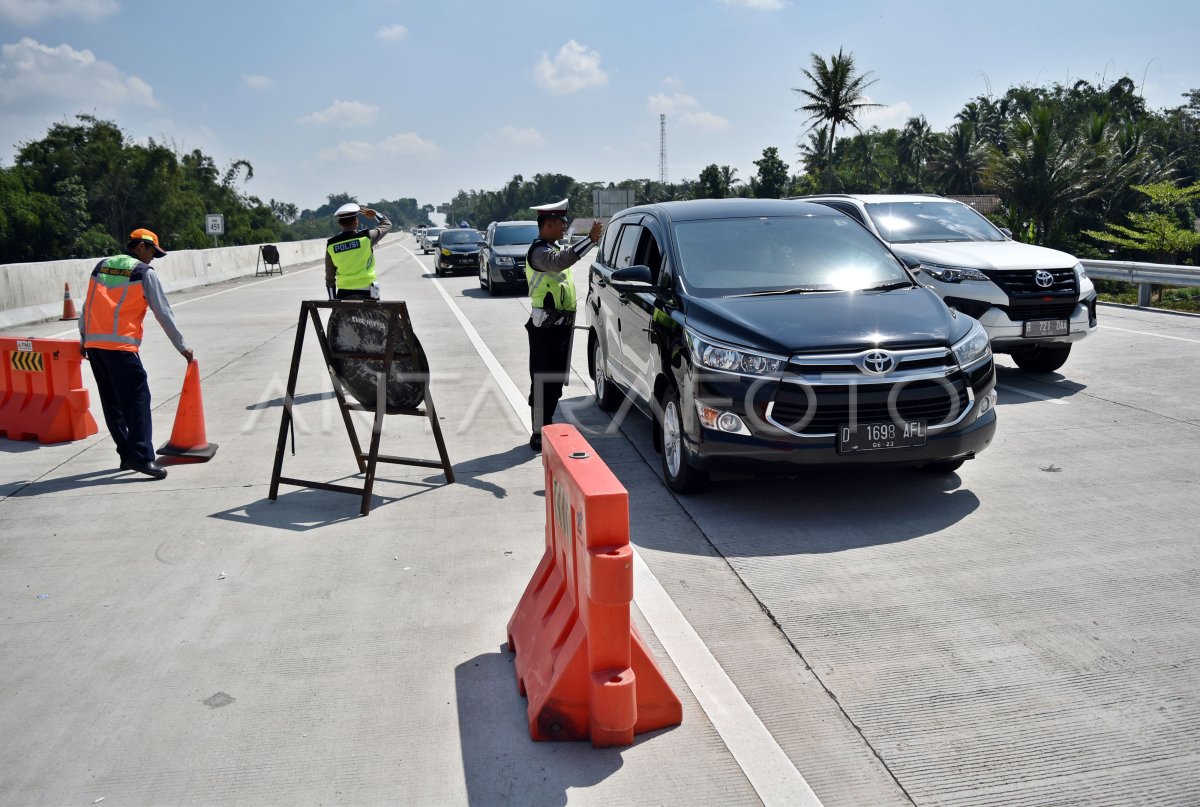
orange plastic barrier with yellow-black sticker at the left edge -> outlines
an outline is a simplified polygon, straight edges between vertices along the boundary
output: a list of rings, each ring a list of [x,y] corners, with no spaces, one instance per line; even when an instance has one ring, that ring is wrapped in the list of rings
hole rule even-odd
[[[95,435],[73,339],[0,336],[0,434],[61,443]]]

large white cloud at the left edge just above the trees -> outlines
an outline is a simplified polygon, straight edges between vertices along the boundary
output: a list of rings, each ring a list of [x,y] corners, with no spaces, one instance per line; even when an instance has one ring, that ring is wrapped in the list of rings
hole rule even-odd
[[[154,89],[137,76],[70,44],[56,48],[28,36],[0,47],[0,106],[7,112],[62,112],[66,104],[157,107]]]

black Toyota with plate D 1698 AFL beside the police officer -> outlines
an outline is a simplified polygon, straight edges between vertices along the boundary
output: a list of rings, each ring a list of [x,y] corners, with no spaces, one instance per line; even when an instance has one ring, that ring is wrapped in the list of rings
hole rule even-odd
[[[991,442],[988,335],[847,216],[780,199],[629,208],[588,274],[600,408],[654,420],[667,485],[719,468],[907,465]]]

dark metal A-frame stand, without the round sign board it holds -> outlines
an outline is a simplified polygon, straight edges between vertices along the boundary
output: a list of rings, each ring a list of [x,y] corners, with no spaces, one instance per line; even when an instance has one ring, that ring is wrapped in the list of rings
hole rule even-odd
[[[388,339],[383,353],[335,353],[329,345],[325,328],[322,325],[319,309],[331,310],[382,310],[388,315]],[[283,472],[283,450],[287,444],[288,429],[293,424],[292,405],[296,391],[296,378],[300,372],[300,353],[304,349],[305,327],[312,319],[313,330],[317,333],[317,341],[320,343],[320,352],[325,359],[325,369],[329,371],[329,379],[334,383],[334,394],[337,396],[337,406],[342,412],[342,420],[346,423],[346,434],[350,438],[350,447],[354,449],[354,460],[359,465],[359,473],[365,474],[362,488],[350,485],[337,485],[328,482],[314,482],[311,479],[296,479],[281,476]],[[392,358],[400,340],[408,345],[408,354],[414,358],[419,355],[416,336],[413,333],[412,322],[408,318],[408,306],[403,301],[378,301],[378,300],[305,300],[300,304],[300,322],[296,325],[296,341],[292,351],[292,370],[288,373],[288,390],[283,396],[283,417],[280,420],[280,438],[275,446],[275,468],[271,472],[270,498],[276,501],[280,492],[280,484],[295,485],[298,488],[314,488],[317,490],[332,490],[342,494],[354,494],[361,497],[359,513],[366,515],[371,512],[371,491],[374,488],[376,466],[379,462],[392,462],[395,465],[415,465],[424,468],[440,468],[445,474],[446,483],[454,482],[454,466],[446,455],[446,444],[442,438],[442,426],[438,425],[437,411],[433,408],[433,397],[430,395],[428,373],[420,372],[419,383],[424,388],[424,408],[415,410],[391,410],[388,411],[388,378],[391,373]],[[358,359],[364,361],[382,360],[383,372],[379,373],[376,383],[376,404],[373,407],[361,404],[352,404],[346,400],[346,390],[342,382],[334,371],[334,359]],[[374,412],[374,420],[371,426],[371,447],[362,452],[358,434],[354,430],[354,420],[350,418],[352,411]],[[384,414],[407,414],[420,418],[428,418],[433,429],[433,440],[438,444],[438,460],[420,460],[409,456],[389,456],[379,454],[379,436],[383,432]],[[294,448],[293,448],[294,450]]]

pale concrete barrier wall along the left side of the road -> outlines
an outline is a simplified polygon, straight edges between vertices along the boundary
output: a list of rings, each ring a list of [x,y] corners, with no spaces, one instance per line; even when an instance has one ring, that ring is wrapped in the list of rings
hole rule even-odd
[[[276,244],[283,270],[322,261],[325,239]],[[259,245],[214,250],[179,250],[154,262],[167,293],[254,274]],[[82,309],[88,277],[101,258],[10,263],[0,265],[0,328],[11,328],[62,316],[62,285],[71,283],[71,299]]]

